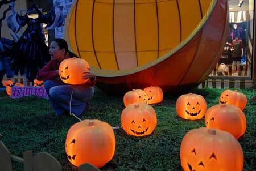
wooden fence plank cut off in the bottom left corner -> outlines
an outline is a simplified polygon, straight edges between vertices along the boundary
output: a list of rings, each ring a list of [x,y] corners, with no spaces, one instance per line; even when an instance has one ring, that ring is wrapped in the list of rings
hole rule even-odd
[[[5,144],[0,141],[0,170],[1,171],[12,171],[11,155],[9,150],[5,147]]]

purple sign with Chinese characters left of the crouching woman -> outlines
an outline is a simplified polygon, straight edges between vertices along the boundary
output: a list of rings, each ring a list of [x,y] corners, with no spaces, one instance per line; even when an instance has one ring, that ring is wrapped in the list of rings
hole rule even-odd
[[[36,96],[39,98],[48,99],[48,95],[44,87],[11,87],[11,99],[18,99],[24,96]]]

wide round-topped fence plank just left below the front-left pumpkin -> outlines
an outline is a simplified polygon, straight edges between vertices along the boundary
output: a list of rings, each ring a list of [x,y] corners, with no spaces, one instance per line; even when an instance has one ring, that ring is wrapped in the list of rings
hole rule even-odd
[[[61,171],[60,163],[46,152],[41,152],[33,157],[33,171]]]

